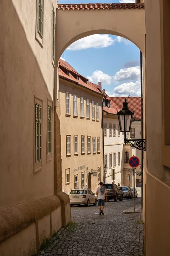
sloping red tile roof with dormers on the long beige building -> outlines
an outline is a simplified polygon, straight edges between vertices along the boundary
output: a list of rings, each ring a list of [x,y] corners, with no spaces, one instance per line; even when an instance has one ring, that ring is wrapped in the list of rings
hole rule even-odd
[[[63,71],[63,68],[65,69],[65,71],[69,72],[69,76]],[[78,76],[79,80],[77,80],[74,77],[74,75]],[[77,73],[77,71],[73,67],[71,67],[71,65],[68,64],[68,62],[63,61],[62,59],[59,59],[59,77],[75,82],[76,84],[79,84],[80,86],[83,86],[88,90],[92,90],[95,93],[102,95],[101,91],[99,90],[99,86],[97,84],[94,84],[88,81],[87,78]],[[87,81],[87,84],[85,83],[85,80]]]

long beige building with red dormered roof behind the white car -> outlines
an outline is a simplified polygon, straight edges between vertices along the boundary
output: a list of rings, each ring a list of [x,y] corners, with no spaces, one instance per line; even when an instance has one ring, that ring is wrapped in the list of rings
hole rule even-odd
[[[62,190],[103,181],[102,98],[98,85],[59,60]]]

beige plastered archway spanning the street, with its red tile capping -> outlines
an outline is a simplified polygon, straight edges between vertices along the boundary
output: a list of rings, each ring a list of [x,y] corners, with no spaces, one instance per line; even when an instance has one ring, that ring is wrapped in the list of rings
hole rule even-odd
[[[111,34],[132,41],[145,55],[144,3],[58,4],[56,59],[80,38]]]

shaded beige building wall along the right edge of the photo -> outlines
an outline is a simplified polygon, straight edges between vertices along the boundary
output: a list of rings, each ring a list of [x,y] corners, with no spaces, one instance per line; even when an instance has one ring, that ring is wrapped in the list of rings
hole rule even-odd
[[[160,256],[170,254],[170,1],[145,0],[145,18],[145,253]]]

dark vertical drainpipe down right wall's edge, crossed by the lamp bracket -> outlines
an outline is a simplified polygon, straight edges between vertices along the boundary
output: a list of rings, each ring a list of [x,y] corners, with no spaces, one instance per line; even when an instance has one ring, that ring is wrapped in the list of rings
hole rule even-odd
[[[143,139],[143,70],[142,70],[142,52],[140,52],[140,70],[141,70],[141,139]],[[143,156],[144,151],[142,149],[141,152],[141,197],[142,197],[142,204],[141,207],[143,208]]]

